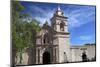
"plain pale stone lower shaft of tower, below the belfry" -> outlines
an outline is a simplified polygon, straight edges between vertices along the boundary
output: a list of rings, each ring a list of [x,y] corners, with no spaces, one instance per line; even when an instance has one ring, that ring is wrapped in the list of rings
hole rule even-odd
[[[58,35],[59,63],[70,61],[69,35]]]

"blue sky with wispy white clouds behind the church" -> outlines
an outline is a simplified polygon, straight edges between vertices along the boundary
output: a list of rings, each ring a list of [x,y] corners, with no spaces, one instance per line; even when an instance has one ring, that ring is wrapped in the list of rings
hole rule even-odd
[[[21,4],[25,7],[23,13],[37,19],[40,25],[46,20],[50,24],[50,19],[59,5],[64,15],[68,17],[71,45],[95,43],[95,6],[38,2],[21,2]]]

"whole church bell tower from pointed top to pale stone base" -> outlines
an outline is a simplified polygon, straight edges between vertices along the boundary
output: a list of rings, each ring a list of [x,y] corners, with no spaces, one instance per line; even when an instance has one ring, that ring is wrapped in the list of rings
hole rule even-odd
[[[70,36],[68,32],[68,17],[64,16],[60,6],[58,6],[51,18],[51,27],[56,31],[54,41],[59,46],[59,63],[70,62]]]

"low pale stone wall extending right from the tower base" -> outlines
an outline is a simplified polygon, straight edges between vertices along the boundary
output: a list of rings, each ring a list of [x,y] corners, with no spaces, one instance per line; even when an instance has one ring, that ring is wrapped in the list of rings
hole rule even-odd
[[[80,62],[82,61],[82,53],[85,51],[88,61],[92,61],[95,58],[95,45],[86,45],[86,46],[74,46],[71,47],[71,62]]]

